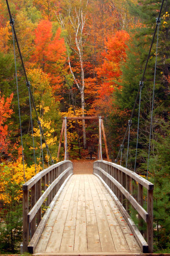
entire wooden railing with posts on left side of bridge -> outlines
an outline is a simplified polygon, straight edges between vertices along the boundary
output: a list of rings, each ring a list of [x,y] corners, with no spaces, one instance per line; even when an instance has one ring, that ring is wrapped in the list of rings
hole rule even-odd
[[[66,160],[49,166],[23,184],[23,251],[33,253],[46,220],[72,174],[73,163]],[[46,209],[43,218],[42,205]]]

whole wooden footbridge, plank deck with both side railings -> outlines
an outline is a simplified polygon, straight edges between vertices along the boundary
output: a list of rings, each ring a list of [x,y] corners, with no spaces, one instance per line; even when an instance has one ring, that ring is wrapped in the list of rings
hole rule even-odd
[[[153,188],[146,179],[108,161],[95,161],[93,174],[74,174],[68,160],[53,164],[23,184],[23,251],[152,253]],[[143,220],[147,224],[146,231],[140,233],[132,212],[139,229]]]

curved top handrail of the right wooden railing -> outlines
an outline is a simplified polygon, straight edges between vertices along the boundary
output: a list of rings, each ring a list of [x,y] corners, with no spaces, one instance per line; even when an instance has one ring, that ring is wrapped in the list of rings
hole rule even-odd
[[[144,179],[143,177],[141,177],[140,175],[138,175],[137,173],[135,172],[132,172],[130,171],[129,169],[119,165],[119,164],[114,164],[114,163],[111,163],[111,162],[107,162],[107,161],[104,161],[104,160],[97,160],[94,162],[94,164],[96,162],[101,162],[103,164],[109,164],[111,166],[114,166],[115,168],[121,170],[122,172],[124,172],[125,174],[128,174],[130,177],[132,177],[134,180],[136,180],[137,182],[139,182],[143,187],[147,188],[147,189],[151,189],[153,190],[154,189],[154,184],[152,184],[151,182],[149,182],[148,180]]]

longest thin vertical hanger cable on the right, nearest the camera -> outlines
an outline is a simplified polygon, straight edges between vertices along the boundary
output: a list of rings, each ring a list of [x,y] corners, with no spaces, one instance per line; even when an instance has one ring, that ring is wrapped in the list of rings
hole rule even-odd
[[[156,78],[156,67],[157,67],[157,48],[158,48],[158,39],[159,39],[160,18],[156,18],[156,23],[157,23],[157,46],[156,46],[156,56],[155,56],[155,72],[154,72],[152,110],[151,110],[151,120],[150,120],[149,150],[148,150],[148,159],[147,159],[147,179],[148,179],[148,169],[149,169],[149,160],[150,160],[150,141],[151,141],[152,123],[153,123],[153,105],[154,105],[154,96],[155,96],[155,78]]]

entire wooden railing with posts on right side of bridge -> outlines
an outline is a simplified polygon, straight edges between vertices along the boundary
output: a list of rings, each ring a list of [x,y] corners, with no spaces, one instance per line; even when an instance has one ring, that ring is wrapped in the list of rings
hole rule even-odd
[[[123,166],[107,161],[95,161],[93,169],[94,174],[112,195],[143,252],[152,253],[154,184]],[[147,190],[147,195],[144,190]],[[143,208],[145,203],[147,203],[147,211]],[[147,223],[147,234],[144,232],[147,243],[129,216],[129,213],[133,212],[132,208],[137,211],[139,228],[142,226],[142,219]]]

